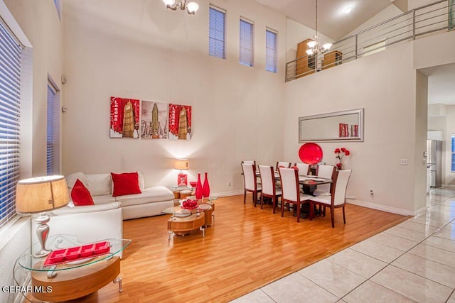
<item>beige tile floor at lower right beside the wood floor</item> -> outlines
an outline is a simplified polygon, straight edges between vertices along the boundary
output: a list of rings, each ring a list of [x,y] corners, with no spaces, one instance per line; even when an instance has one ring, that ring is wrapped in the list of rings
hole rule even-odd
[[[232,302],[455,303],[455,189],[427,211]]]

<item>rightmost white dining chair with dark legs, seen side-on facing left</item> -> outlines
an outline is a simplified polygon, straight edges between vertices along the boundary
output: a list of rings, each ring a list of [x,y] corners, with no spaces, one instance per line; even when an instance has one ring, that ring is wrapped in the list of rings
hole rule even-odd
[[[344,206],[346,205],[346,188],[348,187],[348,181],[352,170],[338,170],[335,172],[333,177],[333,187],[331,195],[311,197],[310,199],[310,220],[314,218],[314,206],[324,206],[324,215],[326,207],[330,207],[332,227],[335,227],[335,216],[334,211],[336,208],[343,207],[343,222],[346,224],[346,216]]]

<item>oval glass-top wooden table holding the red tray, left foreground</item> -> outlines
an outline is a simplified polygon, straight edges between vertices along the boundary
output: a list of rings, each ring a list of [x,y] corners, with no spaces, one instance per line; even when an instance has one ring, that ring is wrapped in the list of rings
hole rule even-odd
[[[96,292],[109,282],[119,283],[119,292],[122,292],[122,277],[120,274],[119,253],[131,243],[128,239],[103,239],[99,243],[105,245],[101,253],[83,257],[82,248],[95,247],[94,243],[83,243],[78,241],[77,236],[56,235],[46,241],[46,248],[53,250],[49,257],[55,262],[48,264],[50,258],[35,258],[33,252],[41,247],[39,243],[33,244],[31,248],[24,250],[19,255],[17,263],[26,270],[31,271],[31,285],[33,297],[42,301],[67,301],[84,297],[87,294]],[[76,248],[80,247],[80,250]],[[65,250],[65,248],[70,248]],[[72,248],[78,251],[74,260],[65,261],[62,258],[58,261],[57,252],[70,251]],[[96,251],[96,250],[94,250]],[[74,254],[73,254],[74,255]],[[47,260],[48,259],[48,260]],[[68,255],[69,259],[69,255]]]

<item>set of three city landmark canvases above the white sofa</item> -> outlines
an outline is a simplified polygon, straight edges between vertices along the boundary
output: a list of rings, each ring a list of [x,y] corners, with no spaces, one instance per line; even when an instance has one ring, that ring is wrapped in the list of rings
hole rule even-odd
[[[111,97],[110,138],[191,140],[191,106]]]

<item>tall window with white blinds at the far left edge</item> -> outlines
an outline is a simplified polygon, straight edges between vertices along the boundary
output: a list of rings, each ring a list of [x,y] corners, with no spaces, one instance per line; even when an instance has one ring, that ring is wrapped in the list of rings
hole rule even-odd
[[[0,23],[0,226],[16,214],[19,180],[21,45]]]

